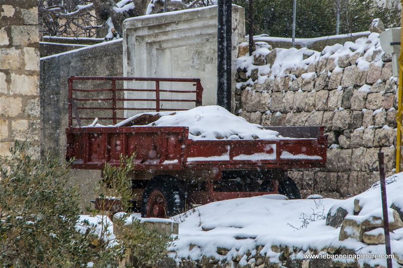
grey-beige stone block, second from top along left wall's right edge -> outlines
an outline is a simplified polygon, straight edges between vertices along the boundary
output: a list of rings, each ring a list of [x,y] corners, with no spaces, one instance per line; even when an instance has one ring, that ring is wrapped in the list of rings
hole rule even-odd
[[[37,25],[11,26],[13,45],[36,46],[39,43]]]

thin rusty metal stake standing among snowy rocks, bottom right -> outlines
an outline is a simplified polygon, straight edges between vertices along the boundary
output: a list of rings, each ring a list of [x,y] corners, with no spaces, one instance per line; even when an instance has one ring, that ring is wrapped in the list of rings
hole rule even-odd
[[[392,259],[389,258],[391,255],[390,250],[390,237],[389,237],[389,219],[387,215],[387,200],[386,200],[386,182],[385,182],[385,165],[384,165],[384,155],[383,152],[378,152],[378,162],[379,162],[379,176],[381,184],[381,198],[382,198],[382,211],[383,211],[383,225],[385,227],[385,247],[387,267],[392,268]]]

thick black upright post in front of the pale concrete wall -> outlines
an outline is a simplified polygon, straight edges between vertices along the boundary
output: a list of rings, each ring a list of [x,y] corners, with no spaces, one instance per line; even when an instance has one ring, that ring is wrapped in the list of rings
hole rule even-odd
[[[218,1],[217,105],[231,111],[232,0]]]

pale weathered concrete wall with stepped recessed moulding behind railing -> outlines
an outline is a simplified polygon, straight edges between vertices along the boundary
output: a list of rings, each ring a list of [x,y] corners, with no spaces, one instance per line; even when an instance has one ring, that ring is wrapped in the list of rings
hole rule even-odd
[[[200,78],[204,87],[203,104],[216,104],[217,12],[217,6],[212,6],[125,20],[123,22],[124,75]],[[235,5],[232,7],[232,29],[232,90],[234,92],[238,43],[245,35],[244,9]],[[128,82],[125,86],[126,88],[139,87],[139,83]],[[147,83],[140,86],[146,88]],[[149,86],[154,88],[153,84]],[[161,88],[164,86],[189,89],[189,84],[165,84],[161,85]],[[154,93],[129,92],[127,96],[152,98]],[[183,94],[181,97],[184,97]],[[166,94],[164,98],[177,98],[177,96]],[[182,102],[180,107],[191,108],[189,104],[192,103]],[[139,105],[140,108],[154,107],[155,102],[136,103],[136,105],[137,108]],[[175,105],[177,108],[177,104]],[[171,108],[171,103],[166,103],[164,107]]]

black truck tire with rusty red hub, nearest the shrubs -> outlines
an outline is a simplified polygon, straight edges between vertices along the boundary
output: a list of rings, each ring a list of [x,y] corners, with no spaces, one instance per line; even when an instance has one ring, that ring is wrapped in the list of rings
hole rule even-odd
[[[185,197],[177,179],[170,176],[153,178],[144,189],[142,217],[169,218],[184,212]]]

